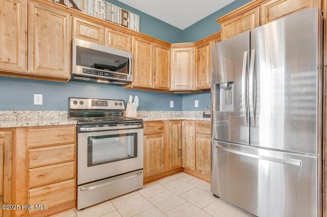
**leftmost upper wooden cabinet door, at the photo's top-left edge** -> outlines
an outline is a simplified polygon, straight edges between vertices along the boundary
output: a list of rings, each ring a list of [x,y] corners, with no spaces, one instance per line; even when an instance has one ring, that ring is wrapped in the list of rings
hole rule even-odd
[[[0,69],[26,72],[27,1],[0,1]]]

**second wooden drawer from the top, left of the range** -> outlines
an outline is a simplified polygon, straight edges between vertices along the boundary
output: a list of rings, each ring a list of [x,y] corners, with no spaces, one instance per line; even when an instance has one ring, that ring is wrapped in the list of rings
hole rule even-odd
[[[75,144],[28,150],[29,168],[75,160]]]

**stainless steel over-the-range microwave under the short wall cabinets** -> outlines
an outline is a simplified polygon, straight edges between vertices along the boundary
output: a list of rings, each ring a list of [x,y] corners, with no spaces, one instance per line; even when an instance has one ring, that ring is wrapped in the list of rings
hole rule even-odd
[[[72,80],[128,84],[133,81],[133,53],[74,38]]]

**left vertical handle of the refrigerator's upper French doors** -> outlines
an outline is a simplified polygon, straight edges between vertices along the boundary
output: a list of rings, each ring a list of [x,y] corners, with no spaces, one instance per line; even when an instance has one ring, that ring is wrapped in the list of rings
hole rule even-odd
[[[244,51],[243,55],[243,67],[242,67],[242,116],[243,116],[243,125],[248,125],[248,100],[247,100],[247,51]]]

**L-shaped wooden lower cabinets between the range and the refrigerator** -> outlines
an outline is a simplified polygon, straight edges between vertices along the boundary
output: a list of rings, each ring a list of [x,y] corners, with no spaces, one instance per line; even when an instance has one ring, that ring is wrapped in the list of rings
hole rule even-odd
[[[184,170],[211,179],[209,121],[145,121],[144,182]]]

